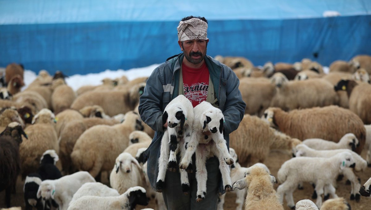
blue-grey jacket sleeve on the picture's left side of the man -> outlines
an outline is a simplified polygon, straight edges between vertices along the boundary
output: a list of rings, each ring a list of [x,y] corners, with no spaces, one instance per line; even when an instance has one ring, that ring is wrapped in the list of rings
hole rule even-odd
[[[144,92],[139,98],[139,114],[141,119],[154,131],[163,132],[162,127],[162,93],[164,77],[162,69],[157,67],[148,78]]]

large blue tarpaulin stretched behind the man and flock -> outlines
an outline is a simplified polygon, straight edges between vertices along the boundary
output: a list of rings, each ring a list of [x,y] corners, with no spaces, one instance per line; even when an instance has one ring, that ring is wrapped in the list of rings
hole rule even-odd
[[[181,52],[188,15],[208,19],[210,56],[327,66],[371,54],[369,0],[0,0],[0,66],[72,75],[162,63]]]

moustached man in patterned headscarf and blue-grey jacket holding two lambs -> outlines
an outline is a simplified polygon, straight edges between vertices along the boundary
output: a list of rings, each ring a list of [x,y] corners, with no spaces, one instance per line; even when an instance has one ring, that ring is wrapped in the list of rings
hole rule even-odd
[[[223,111],[224,139],[228,147],[228,134],[237,129],[246,106],[238,89],[239,80],[233,71],[206,55],[209,42],[207,20],[204,17],[188,16],[179,22],[177,30],[178,44],[183,53],[170,57],[152,72],[139,101],[142,120],[156,131],[150,147],[144,154],[145,158],[148,158],[148,178],[154,189],[161,138],[167,127],[166,123],[162,124],[162,113],[172,99],[184,94],[192,102],[193,107],[206,100]],[[193,171],[196,171],[195,164],[193,167]],[[188,174],[191,193],[185,195],[182,193],[180,173],[167,171],[162,195],[169,210],[216,209],[218,192],[225,192],[220,185],[221,174],[217,158],[208,159],[206,168],[207,194],[199,203],[196,202],[195,172]]]

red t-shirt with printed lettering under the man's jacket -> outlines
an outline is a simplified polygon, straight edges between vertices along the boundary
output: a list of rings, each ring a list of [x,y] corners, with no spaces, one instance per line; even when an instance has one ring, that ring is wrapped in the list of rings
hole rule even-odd
[[[184,96],[192,102],[193,107],[202,101],[206,101],[207,91],[209,90],[209,75],[209,69],[205,62],[199,69],[182,64]]]

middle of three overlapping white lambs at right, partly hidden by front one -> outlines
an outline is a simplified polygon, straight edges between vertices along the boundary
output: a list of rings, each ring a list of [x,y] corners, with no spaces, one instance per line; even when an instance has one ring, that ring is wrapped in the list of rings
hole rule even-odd
[[[296,146],[296,154],[297,157],[332,157],[338,153],[348,151],[351,153],[353,160],[355,161],[355,168],[354,171],[363,171],[367,168],[367,161],[362,159],[357,153],[348,150],[348,149],[336,149],[336,150],[314,150],[310,147],[306,146],[305,144],[299,144]],[[360,187],[358,182],[358,177],[354,174],[352,169],[345,168],[342,169],[342,174],[351,181],[352,189],[351,189],[351,200],[359,201],[360,195],[357,193]],[[325,195],[326,196],[326,195]]]

